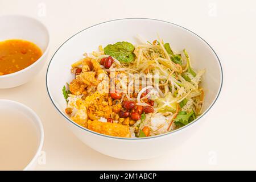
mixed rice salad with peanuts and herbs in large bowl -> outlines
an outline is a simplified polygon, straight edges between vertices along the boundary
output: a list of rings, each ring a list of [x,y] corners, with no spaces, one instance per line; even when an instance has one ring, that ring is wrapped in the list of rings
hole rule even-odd
[[[63,86],[65,113],[78,125],[113,137],[142,138],[174,131],[201,114],[204,70],[192,68],[186,49],[162,39],[117,42],[84,53]]]

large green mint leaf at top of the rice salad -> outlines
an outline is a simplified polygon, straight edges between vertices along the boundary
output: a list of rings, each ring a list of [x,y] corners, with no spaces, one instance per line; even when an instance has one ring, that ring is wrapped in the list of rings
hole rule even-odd
[[[134,46],[129,42],[117,42],[115,44],[108,44],[104,48],[106,55],[115,57],[121,63],[130,63],[134,60]]]

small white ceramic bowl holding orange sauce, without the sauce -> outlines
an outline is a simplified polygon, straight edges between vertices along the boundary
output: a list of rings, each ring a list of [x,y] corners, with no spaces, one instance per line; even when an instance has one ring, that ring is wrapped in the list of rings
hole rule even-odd
[[[0,32],[0,41],[28,40],[35,43],[43,52],[43,55],[29,67],[0,76],[0,89],[13,88],[28,82],[43,68],[49,49],[49,32],[39,20],[23,15],[0,16]]]

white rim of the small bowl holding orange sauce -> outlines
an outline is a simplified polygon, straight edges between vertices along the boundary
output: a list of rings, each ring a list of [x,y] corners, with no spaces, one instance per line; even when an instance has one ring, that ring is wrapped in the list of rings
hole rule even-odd
[[[7,74],[7,75],[1,75],[1,76],[0,76],[0,79],[1,79],[1,78],[6,78],[6,77],[11,77],[11,76],[18,75],[19,73],[26,72],[28,69],[34,67],[36,64],[38,64],[39,61],[42,61],[42,60],[44,59],[44,57],[46,57],[46,55],[47,55],[47,53],[48,53],[48,51],[49,51],[49,44],[50,44],[50,41],[51,41],[48,28],[47,28],[46,25],[44,25],[44,23],[42,23],[39,19],[36,19],[36,18],[34,18],[34,17],[31,17],[31,16],[19,15],[19,14],[1,15],[1,16],[0,16],[0,19],[1,19],[1,18],[5,18],[5,17],[11,17],[11,16],[13,16],[13,17],[15,17],[15,18],[17,18],[17,17],[22,17],[22,18],[27,18],[27,19],[35,20],[36,22],[38,22],[39,24],[41,24],[41,25],[45,28],[45,30],[46,30],[46,33],[47,33],[47,36],[48,36],[48,43],[47,43],[46,50],[45,50],[44,52],[41,50],[41,51],[43,52],[43,54],[42,54],[42,56],[39,57],[38,60],[36,60],[34,63],[32,63],[31,65],[29,65],[29,66],[26,67],[26,68],[20,69],[20,71],[18,71],[18,72],[10,73],[10,74]],[[21,39],[18,39],[18,40],[21,40]],[[5,41],[5,40],[3,40],[3,41]],[[27,40],[27,41],[28,41],[28,40]],[[2,41],[1,41],[1,42],[2,42]],[[37,46],[37,45],[36,45],[36,46]]]

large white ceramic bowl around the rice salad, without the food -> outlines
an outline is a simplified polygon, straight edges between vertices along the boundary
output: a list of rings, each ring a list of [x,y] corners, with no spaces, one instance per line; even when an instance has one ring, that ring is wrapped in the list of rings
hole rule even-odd
[[[95,133],[71,121],[64,113],[66,102],[61,93],[63,85],[71,81],[71,64],[81,59],[84,52],[98,49],[109,43],[128,41],[137,43],[136,35],[145,40],[155,40],[157,34],[170,42],[174,50],[186,48],[195,69],[206,69],[204,113],[195,121],[171,133],[147,138],[117,138]],[[97,24],[73,35],[53,55],[47,71],[47,90],[53,105],[65,118],[69,129],[94,150],[119,159],[148,159],[162,155],[182,144],[196,130],[199,121],[217,100],[222,85],[222,69],[216,53],[207,42],[193,32],[176,24],[155,19],[118,19]],[[56,129],[57,130],[57,129]]]

